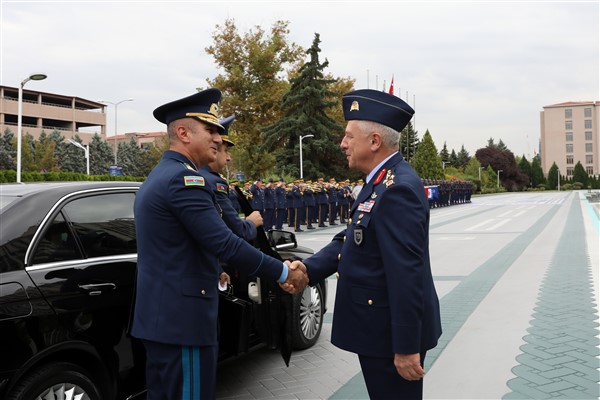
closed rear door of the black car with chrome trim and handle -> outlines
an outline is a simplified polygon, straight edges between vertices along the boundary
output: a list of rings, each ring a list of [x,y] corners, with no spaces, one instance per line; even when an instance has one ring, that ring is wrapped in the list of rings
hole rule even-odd
[[[53,335],[87,342],[124,375],[138,359],[126,335],[137,261],[134,199],[135,189],[68,196],[26,257],[27,272],[62,322]]]

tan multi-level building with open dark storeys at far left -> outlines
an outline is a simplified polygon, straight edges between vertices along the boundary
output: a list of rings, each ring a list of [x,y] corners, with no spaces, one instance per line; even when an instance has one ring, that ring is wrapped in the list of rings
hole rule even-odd
[[[19,89],[0,86],[0,129],[17,133]],[[21,131],[38,139],[55,129],[65,139],[79,135],[83,144],[91,142],[98,133],[106,140],[106,105],[79,97],[23,90]]]

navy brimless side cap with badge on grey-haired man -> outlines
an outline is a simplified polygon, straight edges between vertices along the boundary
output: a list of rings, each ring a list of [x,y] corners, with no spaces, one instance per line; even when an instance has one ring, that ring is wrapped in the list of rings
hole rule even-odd
[[[373,89],[355,90],[342,97],[344,118],[380,123],[398,132],[408,124],[415,111],[402,99]]]

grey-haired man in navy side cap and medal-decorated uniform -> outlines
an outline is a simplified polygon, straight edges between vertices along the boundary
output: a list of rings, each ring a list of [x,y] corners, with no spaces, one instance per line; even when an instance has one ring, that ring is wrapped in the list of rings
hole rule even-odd
[[[358,354],[371,399],[420,399],[423,361],[441,335],[429,264],[429,205],[398,152],[414,111],[377,90],[342,98],[341,148],[367,175],[348,227],[304,260],[310,283],[338,272],[331,342]],[[301,265],[299,261],[293,267]]]

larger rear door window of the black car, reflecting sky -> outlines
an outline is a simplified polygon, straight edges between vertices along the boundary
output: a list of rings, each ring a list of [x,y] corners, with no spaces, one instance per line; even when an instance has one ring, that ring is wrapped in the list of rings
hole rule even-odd
[[[63,207],[87,257],[137,251],[133,193],[113,193],[71,201]]]

